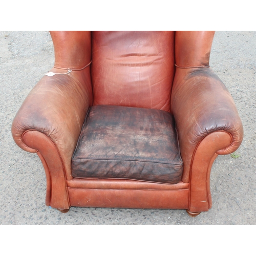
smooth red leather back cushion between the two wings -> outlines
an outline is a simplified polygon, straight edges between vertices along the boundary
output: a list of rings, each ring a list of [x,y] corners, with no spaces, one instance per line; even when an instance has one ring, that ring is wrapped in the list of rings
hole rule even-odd
[[[92,32],[94,105],[170,112],[174,31]]]

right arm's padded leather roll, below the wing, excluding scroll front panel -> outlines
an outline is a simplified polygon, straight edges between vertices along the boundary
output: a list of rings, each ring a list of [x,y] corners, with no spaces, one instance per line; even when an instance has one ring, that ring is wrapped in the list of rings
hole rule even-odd
[[[217,154],[237,150],[243,139],[242,122],[227,88],[210,68],[176,68],[171,97],[185,172],[200,141],[212,132],[224,131],[232,138]]]

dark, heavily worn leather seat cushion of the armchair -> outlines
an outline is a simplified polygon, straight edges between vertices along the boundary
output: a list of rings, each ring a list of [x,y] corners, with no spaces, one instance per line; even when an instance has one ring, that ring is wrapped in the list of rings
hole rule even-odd
[[[72,175],[178,183],[182,160],[173,116],[154,109],[92,106],[72,157]]]

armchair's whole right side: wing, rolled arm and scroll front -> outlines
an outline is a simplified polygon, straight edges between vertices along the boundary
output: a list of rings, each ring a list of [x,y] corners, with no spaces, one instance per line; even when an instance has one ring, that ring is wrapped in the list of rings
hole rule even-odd
[[[220,78],[209,68],[212,31],[177,31],[176,73],[171,96],[183,160],[182,181],[190,182],[190,208],[211,207],[210,168],[218,155],[237,150],[243,126],[236,106]],[[207,184],[210,205],[198,202]],[[207,200],[206,200],[207,201]]]

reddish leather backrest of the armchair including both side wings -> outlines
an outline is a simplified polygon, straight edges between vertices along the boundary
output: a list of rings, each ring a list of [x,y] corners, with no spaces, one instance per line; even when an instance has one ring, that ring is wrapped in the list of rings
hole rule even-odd
[[[167,112],[171,111],[175,63],[179,69],[208,66],[214,38],[214,31],[50,33],[54,67],[83,70],[91,76],[94,105],[135,106]]]

